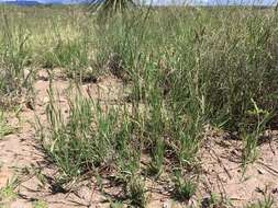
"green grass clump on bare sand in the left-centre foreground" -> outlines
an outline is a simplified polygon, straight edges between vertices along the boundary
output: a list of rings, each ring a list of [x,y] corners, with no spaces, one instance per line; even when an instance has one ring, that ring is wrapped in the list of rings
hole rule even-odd
[[[47,152],[66,178],[107,165],[124,153],[116,153],[124,138],[121,137],[115,109],[105,112],[94,101],[77,95],[68,100],[69,116],[66,119],[52,93],[51,97],[47,107],[49,132],[41,136]]]

